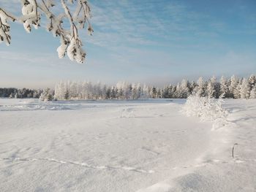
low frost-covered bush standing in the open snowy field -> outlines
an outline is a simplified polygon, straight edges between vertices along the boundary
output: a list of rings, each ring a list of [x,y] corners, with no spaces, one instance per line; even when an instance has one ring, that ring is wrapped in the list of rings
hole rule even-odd
[[[219,99],[214,99],[211,96],[200,97],[191,95],[188,97],[183,107],[183,112],[187,116],[195,116],[202,121],[213,121],[213,129],[220,128],[227,124],[228,112],[222,107],[224,95]]]

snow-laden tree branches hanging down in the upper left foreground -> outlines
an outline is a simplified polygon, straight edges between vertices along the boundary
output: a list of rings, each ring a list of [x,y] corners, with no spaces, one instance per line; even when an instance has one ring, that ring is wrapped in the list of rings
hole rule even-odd
[[[92,34],[93,29],[89,22],[91,9],[87,0],[20,0],[22,16],[15,16],[7,12],[4,7],[0,7],[0,42],[11,43],[10,21],[23,23],[25,30],[30,33],[32,26],[39,28],[42,16],[47,20],[46,28],[54,37],[59,37],[61,46],[57,52],[59,58],[64,58],[67,54],[70,60],[83,63],[86,53],[82,48],[82,42],[78,35],[78,28],[85,28]],[[71,12],[72,4],[76,4],[76,9]],[[53,6],[62,7],[60,14],[53,12]],[[58,14],[58,15],[57,15]],[[69,28],[65,28],[68,20]],[[42,22],[44,23],[44,22]]]

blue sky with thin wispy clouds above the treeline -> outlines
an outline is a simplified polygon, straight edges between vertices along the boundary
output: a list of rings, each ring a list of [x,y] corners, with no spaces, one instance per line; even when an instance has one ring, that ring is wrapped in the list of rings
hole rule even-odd
[[[91,0],[94,35],[80,31],[86,64],[59,59],[43,26],[13,23],[0,45],[0,87],[53,87],[59,80],[153,85],[182,78],[256,73],[255,0]],[[0,0],[18,15],[18,0]]]

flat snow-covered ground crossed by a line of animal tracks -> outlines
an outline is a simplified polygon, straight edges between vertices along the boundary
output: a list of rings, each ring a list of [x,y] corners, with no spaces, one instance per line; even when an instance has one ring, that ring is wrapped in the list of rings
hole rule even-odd
[[[256,191],[255,99],[215,130],[185,101],[0,99],[0,191]]]

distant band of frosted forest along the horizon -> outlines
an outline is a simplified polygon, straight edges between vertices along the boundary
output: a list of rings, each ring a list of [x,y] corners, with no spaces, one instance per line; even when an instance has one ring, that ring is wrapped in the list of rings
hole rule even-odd
[[[102,85],[98,82],[59,82],[54,90],[0,88],[0,97],[8,98],[39,98],[42,101],[69,100],[69,99],[186,99],[191,94],[214,98],[256,99],[256,77],[249,78],[216,77],[203,80],[200,77],[196,82],[182,80],[176,85],[165,85],[162,88],[141,85],[140,83],[118,82],[115,86]]]

